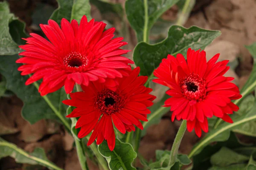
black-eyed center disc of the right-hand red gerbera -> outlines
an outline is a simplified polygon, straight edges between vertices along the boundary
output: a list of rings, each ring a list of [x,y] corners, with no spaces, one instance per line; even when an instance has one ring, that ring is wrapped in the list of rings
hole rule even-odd
[[[196,74],[180,79],[180,88],[183,96],[189,100],[202,101],[206,97],[206,82]]]

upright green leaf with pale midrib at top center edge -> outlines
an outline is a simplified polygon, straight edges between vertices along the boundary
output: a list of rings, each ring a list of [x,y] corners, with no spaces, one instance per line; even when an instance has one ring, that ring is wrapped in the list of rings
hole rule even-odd
[[[148,41],[148,34],[155,21],[179,0],[127,0],[125,11],[138,42]]]

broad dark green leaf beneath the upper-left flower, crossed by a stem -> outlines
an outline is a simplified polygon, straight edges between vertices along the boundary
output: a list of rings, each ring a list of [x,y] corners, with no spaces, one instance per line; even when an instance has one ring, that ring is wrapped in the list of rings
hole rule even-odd
[[[23,101],[24,105],[21,111],[23,118],[31,124],[41,119],[59,120],[49,105],[57,109],[62,115],[66,114],[67,106],[62,104],[67,96],[64,89],[61,88],[61,90],[42,97],[35,84],[25,85],[28,76],[21,76],[20,71],[17,70],[21,65],[15,63],[18,58],[17,54],[1,57],[0,73],[6,78],[6,88],[13,91]]]

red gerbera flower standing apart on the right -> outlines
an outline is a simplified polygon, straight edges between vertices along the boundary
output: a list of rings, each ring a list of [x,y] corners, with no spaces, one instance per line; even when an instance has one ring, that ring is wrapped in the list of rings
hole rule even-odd
[[[238,87],[231,83],[233,77],[224,77],[228,71],[228,60],[217,62],[216,54],[208,62],[205,51],[187,51],[187,61],[182,54],[177,58],[168,55],[163,59],[154,75],[159,79],[153,81],[168,86],[166,94],[172,96],[165,102],[171,107],[172,121],[187,120],[187,129],[195,128],[197,136],[201,129],[208,132],[207,118],[213,115],[226,122],[233,123],[228,114],[238,111],[239,107],[231,100],[241,98]]]

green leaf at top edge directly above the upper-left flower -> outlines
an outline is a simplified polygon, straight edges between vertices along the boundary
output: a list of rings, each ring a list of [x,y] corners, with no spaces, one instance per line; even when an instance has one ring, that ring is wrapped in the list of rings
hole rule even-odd
[[[90,20],[90,3],[89,0],[58,0],[58,9],[56,9],[51,20],[55,20],[58,24],[61,23],[62,18],[71,21],[73,19],[80,22],[81,17],[86,15]]]

